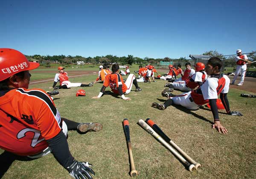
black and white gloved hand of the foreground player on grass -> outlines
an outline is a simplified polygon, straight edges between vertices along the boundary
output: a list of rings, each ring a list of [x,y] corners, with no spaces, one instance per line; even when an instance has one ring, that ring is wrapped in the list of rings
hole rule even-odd
[[[93,177],[91,175],[94,176],[95,173],[93,169],[90,168],[91,166],[93,165],[88,162],[78,162],[74,160],[73,163],[67,167],[67,171],[74,179],[92,179]]]

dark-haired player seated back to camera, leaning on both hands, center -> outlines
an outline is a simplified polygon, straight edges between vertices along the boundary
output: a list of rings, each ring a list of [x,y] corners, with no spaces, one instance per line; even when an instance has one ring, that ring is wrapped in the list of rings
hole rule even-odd
[[[99,92],[99,95],[94,96],[93,99],[100,98],[103,95],[103,92],[105,91],[106,87],[110,86],[111,90],[114,93],[121,95],[122,99],[130,101],[131,98],[127,98],[125,97],[125,95],[131,92],[132,84],[135,85],[136,91],[141,91],[140,87],[137,84],[134,74],[130,74],[124,83],[122,76],[119,74],[118,64],[113,64],[112,74],[109,74],[105,77],[105,81],[103,83],[102,89]]]

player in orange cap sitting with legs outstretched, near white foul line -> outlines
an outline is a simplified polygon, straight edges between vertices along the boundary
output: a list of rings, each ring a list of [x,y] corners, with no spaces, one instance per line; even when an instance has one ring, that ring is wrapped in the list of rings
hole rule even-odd
[[[54,78],[54,82],[52,87],[54,88],[54,90],[58,90],[58,89],[68,89],[70,87],[92,87],[93,86],[93,82],[90,82],[90,84],[81,84],[81,83],[71,83],[70,81],[68,81],[68,75],[67,72],[64,72],[64,69],[62,66],[58,67],[58,71],[59,73],[56,73],[55,78]],[[60,82],[60,86],[56,86],[56,84]],[[56,87],[55,87],[56,86]]]

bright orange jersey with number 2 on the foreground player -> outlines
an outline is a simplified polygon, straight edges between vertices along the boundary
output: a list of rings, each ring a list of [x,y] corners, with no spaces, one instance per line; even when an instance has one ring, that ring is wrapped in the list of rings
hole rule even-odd
[[[10,90],[0,97],[0,116],[0,148],[20,156],[40,153],[61,131],[61,116],[41,89]]]

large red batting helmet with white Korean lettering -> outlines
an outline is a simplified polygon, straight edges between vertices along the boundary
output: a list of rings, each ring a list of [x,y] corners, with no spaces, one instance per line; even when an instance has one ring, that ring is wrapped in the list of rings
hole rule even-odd
[[[39,65],[29,62],[25,55],[15,49],[0,48],[0,81],[18,72],[36,69]]]

